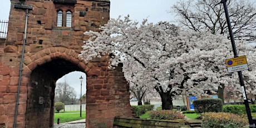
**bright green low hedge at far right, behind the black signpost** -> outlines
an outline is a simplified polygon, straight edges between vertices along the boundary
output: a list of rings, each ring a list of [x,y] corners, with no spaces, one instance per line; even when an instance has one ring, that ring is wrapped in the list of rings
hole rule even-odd
[[[251,112],[256,112],[256,105],[249,105]],[[224,105],[223,112],[229,112],[232,114],[246,114],[245,105]]]

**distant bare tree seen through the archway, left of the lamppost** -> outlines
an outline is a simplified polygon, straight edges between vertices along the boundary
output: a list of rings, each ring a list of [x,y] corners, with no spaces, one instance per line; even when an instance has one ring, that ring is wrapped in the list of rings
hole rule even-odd
[[[66,82],[56,83],[55,101],[63,103],[76,102],[75,88],[71,87]]]

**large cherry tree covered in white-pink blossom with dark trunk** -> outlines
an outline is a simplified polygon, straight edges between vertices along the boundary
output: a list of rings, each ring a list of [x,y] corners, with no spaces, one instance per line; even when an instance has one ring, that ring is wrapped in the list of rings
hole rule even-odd
[[[110,19],[101,32],[85,35],[91,38],[82,46],[83,60],[110,56],[110,68],[124,63],[131,88],[154,88],[165,110],[173,109],[173,99],[181,95],[204,96],[220,85],[237,83],[225,67],[225,59],[232,58],[232,46],[221,35],[181,31],[169,22],[153,24],[146,19],[139,26],[129,16]]]

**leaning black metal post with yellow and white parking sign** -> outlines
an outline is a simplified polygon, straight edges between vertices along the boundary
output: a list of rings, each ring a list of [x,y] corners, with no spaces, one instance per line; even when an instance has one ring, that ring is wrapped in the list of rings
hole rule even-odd
[[[223,6],[224,6],[225,16],[226,16],[227,23],[228,23],[230,40],[231,40],[231,43],[232,43],[232,48],[233,48],[233,53],[234,53],[234,58],[232,58],[228,61],[226,60],[226,63],[227,63],[228,68],[229,68],[229,66],[230,67],[239,66],[239,67],[236,67],[236,68],[232,69],[231,72],[233,72],[233,71],[238,72],[238,77],[239,77],[239,81],[240,81],[240,85],[241,85],[241,89],[242,89],[243,97],[244,97],[244,105],[245,105],[245,109],[246,109],[248,120],[249,120],[249,127],[255,127],[255,125],[253,124],[252,115],[250,113],[250,107],[249,107],[249,103],[248,103],[248,100],[247,100],[247,94],[246,94],[246,91],[245,91],[244,80],[243,80],[243,75],[242,75],[242,70],[245,70],[245,68],[248,68],[248,66],[247,67],[243,66],[243,67],[240,68],[240,65],[245,64],[244,63],[245,56],[244,56],[244,58],[243,58],[243,56],[238,57],[237,48],[235,47],[235,41],[234,41],[234,36],[233,36],[233,32],[232,32],[232,27],[231,27],[230,20],[229,20],[229,14],[228,14],[228,8],[227,8],[226,1],[227,0],[221,0],[220,3],[223,3]],[[240,61],[235,61],[235,60],[240,60]],[[246,61],[246,58],[245,58],[245,61]],[[234,62],[235,62],[236,65],[233,65]],[[246,65],[247,65],[247,62],[246,62]],[[238,68],[238,70],[236,70],[237,68]]]

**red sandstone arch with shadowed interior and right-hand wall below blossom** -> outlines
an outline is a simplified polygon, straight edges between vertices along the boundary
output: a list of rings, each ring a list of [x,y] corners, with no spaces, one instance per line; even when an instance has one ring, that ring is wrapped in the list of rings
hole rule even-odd
[[[111,127],[115,116],[131,116],[129,86],[121,66],[109,70],[105,57],[85,64],[72,50],[54,47],[25,58],[24,63],[27,66],[23,73],[30,74],[27,76],[26,127],[53,125],[55,83],[71,71],[82,71],[87,75],[87,127]]]

